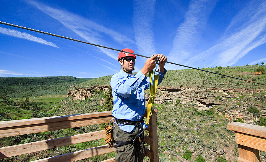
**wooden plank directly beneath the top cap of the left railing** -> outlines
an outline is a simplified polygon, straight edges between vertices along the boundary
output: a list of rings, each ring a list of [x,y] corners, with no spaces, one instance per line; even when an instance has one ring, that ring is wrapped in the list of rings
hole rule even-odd
[[[0,138],[14,136],[14,135],[39,133],[50,130],[59,130],[59,129],[75,128],[87,125],[108,123],[111,120],[111,118],[113,118],[113,116],[67,120],[67,121],[59,121],[54,123],[33,124],[33,125],[28,125],[27,127],[22,125],[11,128],[0,128]]]

